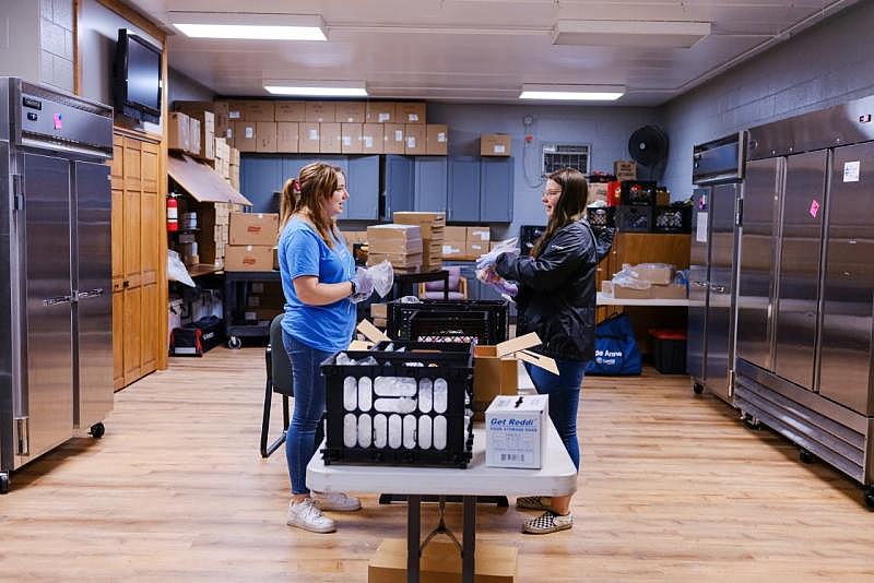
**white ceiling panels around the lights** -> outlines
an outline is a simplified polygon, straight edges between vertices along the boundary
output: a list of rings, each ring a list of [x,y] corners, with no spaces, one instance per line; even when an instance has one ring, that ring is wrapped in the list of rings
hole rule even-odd
[[[656,106],[859,0],[127,0],[163,23],[170,67],[222,95],[264,80],[365,81],[373,98],[508,103],[522,83],[626,85]],[[168,11],[320,14],[328,43],[193,39]],[[558,19],[697,21],[688,49],[553,45]]]

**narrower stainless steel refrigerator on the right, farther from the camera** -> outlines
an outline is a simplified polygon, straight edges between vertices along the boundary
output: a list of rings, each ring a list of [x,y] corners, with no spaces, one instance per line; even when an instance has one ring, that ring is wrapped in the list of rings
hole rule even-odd
[[[739,213],[743,199],[743,135],[693,151],[693,239],[686,368],[696,393],[732,402]]]

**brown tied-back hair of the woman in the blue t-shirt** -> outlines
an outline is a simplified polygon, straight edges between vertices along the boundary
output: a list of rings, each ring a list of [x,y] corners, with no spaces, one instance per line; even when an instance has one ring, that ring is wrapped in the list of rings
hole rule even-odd
[[[290,179],[282,189],[280,200],[280,222],[282,228],[292,215],[306,214],[324,243],[333,249],[339,236],[336,223],[324,212],[324,201],[336,191],[339,177],[343,169],[323,162],[314,162],[300,168],[297,180]],[[280,231],[282,231],[280,228]]]

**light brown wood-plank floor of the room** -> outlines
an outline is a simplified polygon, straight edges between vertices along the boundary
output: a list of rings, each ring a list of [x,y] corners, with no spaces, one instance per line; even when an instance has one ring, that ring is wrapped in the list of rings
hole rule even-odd
[[[258,454],[263,381],[262,348],[218,348],[118,393],[102,440],[68,442],[0,498],[0,579],[366,581],[404,507],[364,493],[336,534],[285,526],[283,452]],[[518,547],[520,581],[874,580],[859,488],[686,378],[589,378],[580,428],[571,531],[522,535],[531,514],[480,510],[479,539]]]

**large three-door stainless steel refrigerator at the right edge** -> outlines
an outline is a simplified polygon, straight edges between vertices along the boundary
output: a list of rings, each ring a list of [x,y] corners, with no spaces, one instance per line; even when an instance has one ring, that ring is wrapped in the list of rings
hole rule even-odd
[[[874,97],[749,130],[735,404],[874,505]]]

